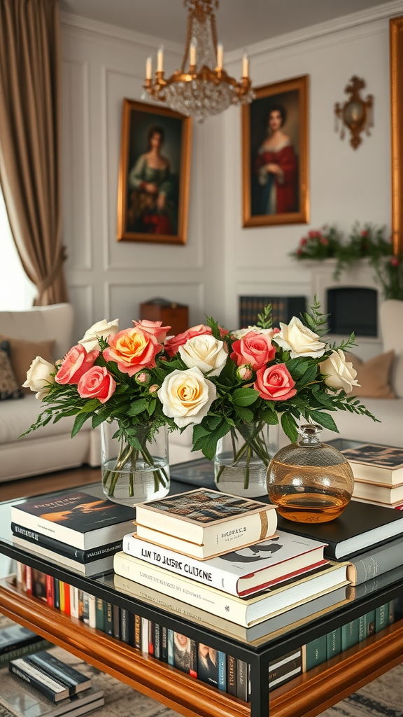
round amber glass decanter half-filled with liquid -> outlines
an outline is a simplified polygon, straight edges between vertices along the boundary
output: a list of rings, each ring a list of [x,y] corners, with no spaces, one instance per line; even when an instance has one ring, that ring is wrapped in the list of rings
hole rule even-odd
[[[327,523],[351,500],[354,478],[346,458],[321,443],[321,427],[300,427],[300,440],[276,453],[267,468],[267,492],[280,516],[298,523]]]

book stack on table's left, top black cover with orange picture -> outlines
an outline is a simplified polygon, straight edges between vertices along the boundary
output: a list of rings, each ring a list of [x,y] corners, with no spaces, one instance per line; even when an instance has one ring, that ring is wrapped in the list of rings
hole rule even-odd
[[[122,549],[123,535],[133,526],[135,515],[134,508],[88,493],[50,495],[11,507],[13,543],[27,553],[93,576],[113,569],[113,556]],[[51,600],[52,589],[44,584],[43,595],[35,594]]]

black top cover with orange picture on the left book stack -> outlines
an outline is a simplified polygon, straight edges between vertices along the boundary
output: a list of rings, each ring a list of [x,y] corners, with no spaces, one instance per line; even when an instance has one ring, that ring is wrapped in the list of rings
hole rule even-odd
[[[66,526],[77,533],[88,533],[98,528],[124,523],[133,520],[135,516],[134,508],[79,492],[51,495],[49,498],[42,496],[27,503],[12,505],[11,516],[14,513],[18,516],[29,513],[56,525]],[[14,517],[13,522],[19,523]]]

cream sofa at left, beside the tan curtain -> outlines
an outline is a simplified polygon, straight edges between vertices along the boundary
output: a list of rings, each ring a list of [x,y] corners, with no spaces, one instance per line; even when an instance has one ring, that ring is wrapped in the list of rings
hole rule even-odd
[[[41,306],[27,311],[0,311],[0,334],[27,341],[54,340],[53,359],[72,346],[74,313],[70,304]],[[85,424],[71,437],[74,418],[52,422],[19,439],[35,422],[41,404],[35,394],[0,401],[0,481],[100,463],[99,432]]]

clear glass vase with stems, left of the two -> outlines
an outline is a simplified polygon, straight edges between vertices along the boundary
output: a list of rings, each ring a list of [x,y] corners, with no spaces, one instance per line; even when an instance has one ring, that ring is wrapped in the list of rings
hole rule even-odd
[[[160,428],[152,441],[148,427],[136,427],[141,445],[134,448],[115,437],[118,422],[101,424],[101,468],[105,497],[122,505],[144,503],[169,493],[168,435]]]

